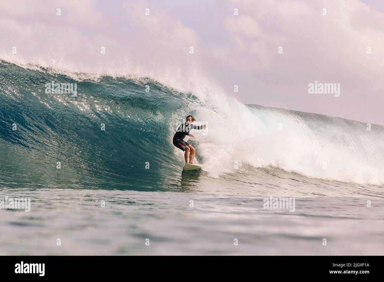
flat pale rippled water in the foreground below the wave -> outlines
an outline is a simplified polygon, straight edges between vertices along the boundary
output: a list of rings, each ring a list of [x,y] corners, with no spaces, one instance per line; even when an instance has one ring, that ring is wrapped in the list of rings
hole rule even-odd
[[[290,212],[244,194],[13,188],[4,195],[30,197],[31,211],[0,209],[1,255],[384,254],[382,198],[296,198]]]

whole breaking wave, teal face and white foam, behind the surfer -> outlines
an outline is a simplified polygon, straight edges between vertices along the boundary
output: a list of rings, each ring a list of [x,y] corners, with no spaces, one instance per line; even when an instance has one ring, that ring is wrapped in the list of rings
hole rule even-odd
[[[77,83],[77,97],[45,93],[51,81]],[[188,114],[207,124],[191,143],[211,178],[278,167],[313,178],[384,183],[381,125],[367,130],[353,120],[243,105],[204,82],[192,88],[1,61],[2,184],[168,185],[183,165],[172,137]]]

